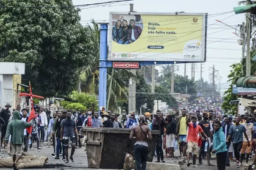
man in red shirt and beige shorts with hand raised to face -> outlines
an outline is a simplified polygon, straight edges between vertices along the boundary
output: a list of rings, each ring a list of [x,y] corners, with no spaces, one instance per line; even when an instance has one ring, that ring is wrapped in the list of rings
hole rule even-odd
[[[190,119],[192,120],[192,123],[190,122]],[[202,130],[202,127],[199,126],[196,123],[197,118],[195,115],[190,115],[187,119],[187,126],[188,126],[188,137],[187,137],[187,142],[188,142],[188,164],[187,166],[192,165],[193,167],[196,165],[196,156],[198,155],[199,147],[198,147],[198,138],[197,135],[199,134],[202,140],[207,140],[207,135],[205,135],[204,131]],[[190,157],[191,154],[193,154],[193,163],[190,163]]]

